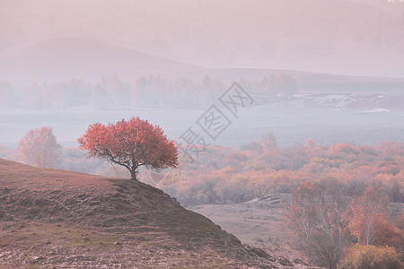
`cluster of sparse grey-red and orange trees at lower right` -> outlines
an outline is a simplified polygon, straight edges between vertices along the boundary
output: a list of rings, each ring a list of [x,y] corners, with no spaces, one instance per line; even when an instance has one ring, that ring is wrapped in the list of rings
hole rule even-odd
[[[342,268],[396,268],[377,267],[380,253],[391,255],[390,248],[379,249],[377,246],[394,249],[400,248],[403,243],[402,230],[387,219],[388,195],[382,187],[370,186],[363,195],[348,201],[348,197],[343,195],[343,188],[335,178],[304,182],[298,187],[283,220],[291,232],[291,239],[315,264],[330,269],[337,268],[343,249],[353,241],[376,247],[354,247]],[[368,258],[365,257],[367,253],[371,255]],[[397,259],[396,254],[393,256]],[[360,259],[367,259],[369,263],[376,259],[378,262],[366,267]],[[351,262],[348,261],[352,260],[356,260],[358,267],[349,264]]]

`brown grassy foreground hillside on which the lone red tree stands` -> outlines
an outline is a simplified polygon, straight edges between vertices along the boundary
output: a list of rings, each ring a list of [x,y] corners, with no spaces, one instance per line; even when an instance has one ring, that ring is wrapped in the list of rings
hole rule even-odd
[[[37,169],[3,159],[0,250],[0,265],[5,267],[293,265],[243,247],[206,217],[144,183]]]

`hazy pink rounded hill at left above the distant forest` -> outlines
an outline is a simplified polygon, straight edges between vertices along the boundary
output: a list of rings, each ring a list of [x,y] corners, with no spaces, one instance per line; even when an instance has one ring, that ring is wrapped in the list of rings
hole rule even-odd
[[[203,73],[204,68],[107,45],[96,39],[66,37],[25,44],[0,54],[0,80],[55,81],[71,77],[99,79],[119,74],[135,80],[143,74],[163,76]]]

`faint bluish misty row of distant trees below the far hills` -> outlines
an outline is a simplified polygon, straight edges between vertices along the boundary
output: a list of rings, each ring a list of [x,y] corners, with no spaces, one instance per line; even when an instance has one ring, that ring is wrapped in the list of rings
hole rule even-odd
[[[258,91],[264,100],[292,96],[297,91],[294,78],[287,74],[269,75],[262,80],[240,80],[245,90]],[[16,89],[0,82],[0,109],[64,110],[86,106],[92,110],[130,108],[207,108],[229,85],[205,76],[201,82],[186,78],[169,80],[142,76],[136,82],[122,82],[117,75],[99,82],[73,78],[56,83],[32,83]]]

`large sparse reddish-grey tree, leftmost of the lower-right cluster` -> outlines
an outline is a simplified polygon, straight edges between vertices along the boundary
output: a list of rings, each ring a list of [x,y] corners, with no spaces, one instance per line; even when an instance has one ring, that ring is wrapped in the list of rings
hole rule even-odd
[[[337,268],[347,226],[347,198],[336,178],[304,182],[284,216],[292,239],[318,265]]]

